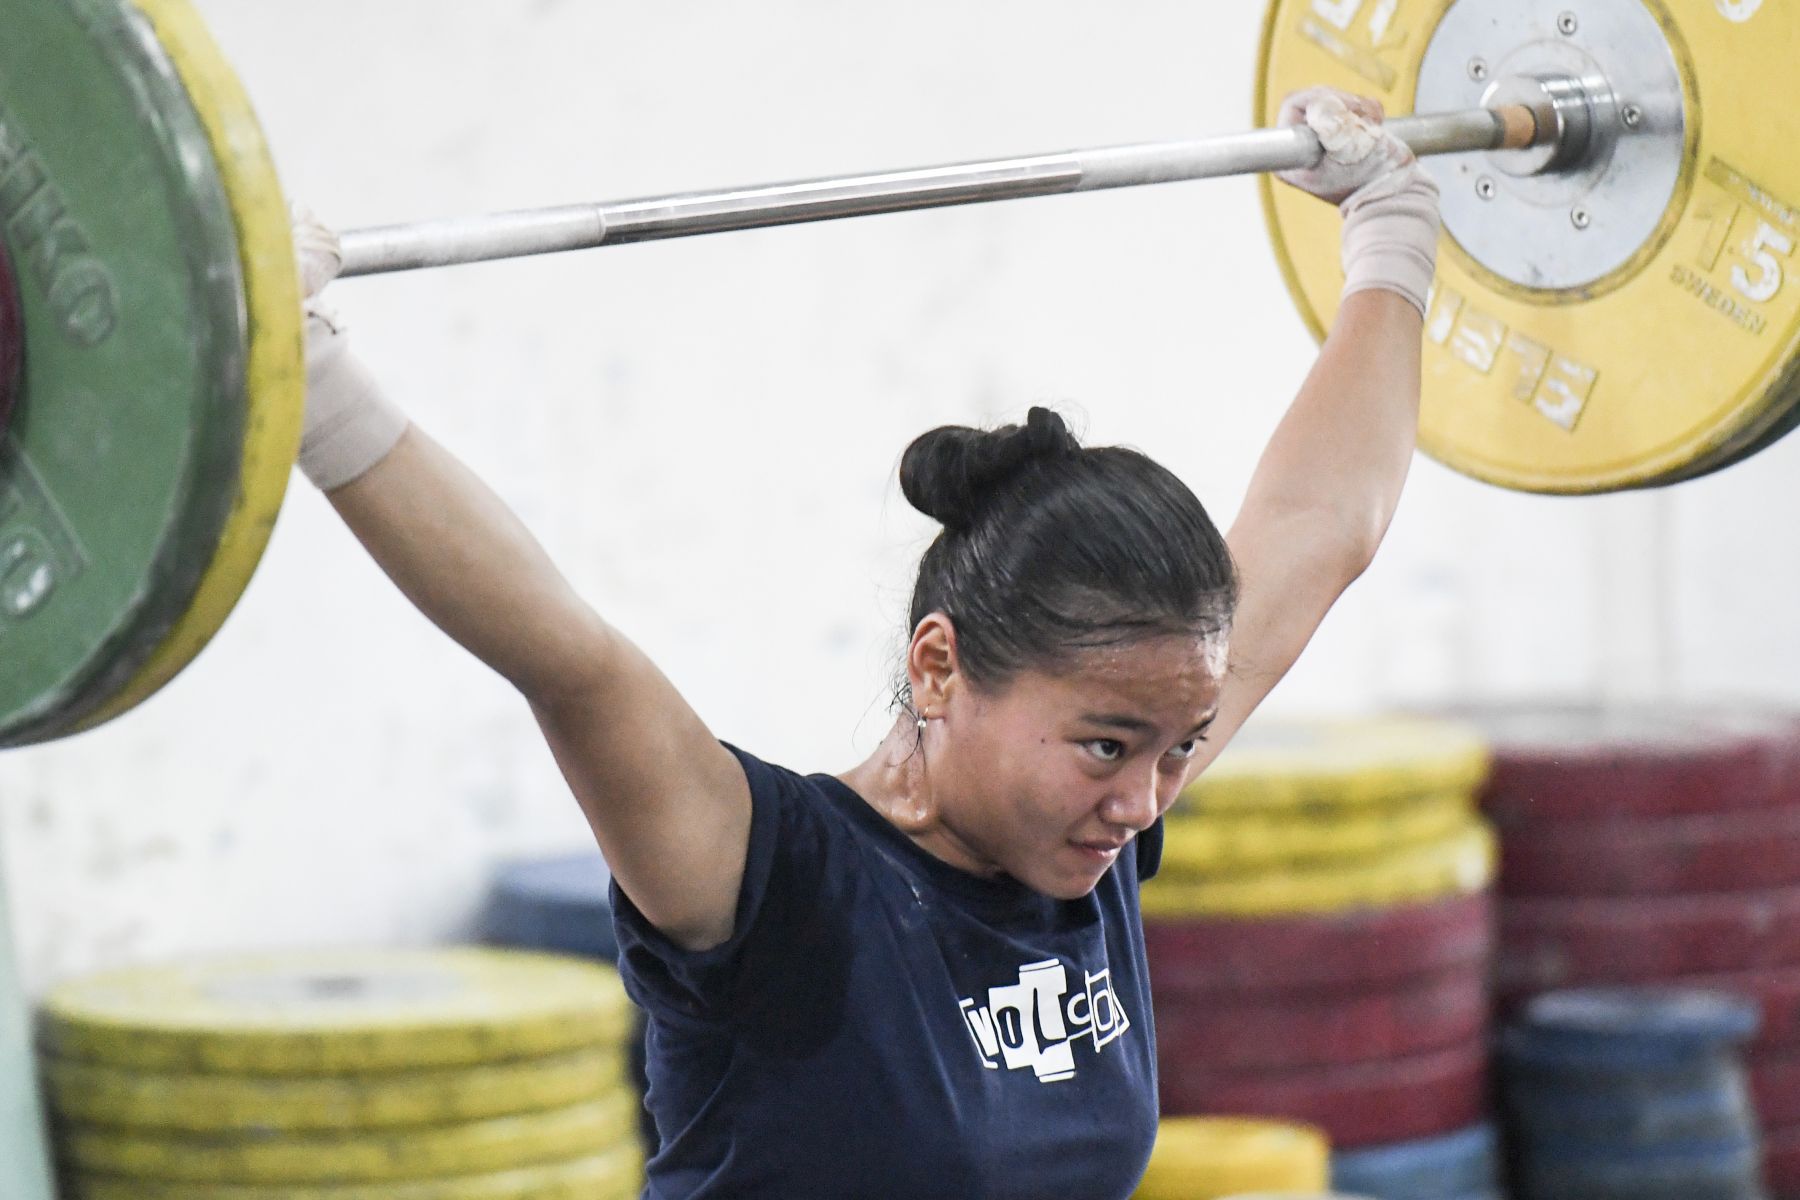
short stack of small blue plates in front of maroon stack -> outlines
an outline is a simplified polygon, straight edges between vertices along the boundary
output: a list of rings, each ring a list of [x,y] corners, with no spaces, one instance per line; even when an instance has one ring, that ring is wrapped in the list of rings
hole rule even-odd
[[[1519,1200],[1764,1200],[1739,1045],[1755,1006],[1697,990],[1552,991],[1507,1031]]]

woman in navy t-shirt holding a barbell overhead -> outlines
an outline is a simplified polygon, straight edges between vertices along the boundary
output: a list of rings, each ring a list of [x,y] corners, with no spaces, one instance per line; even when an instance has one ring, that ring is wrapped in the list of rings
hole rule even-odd
[[[841,775],[716,741],[311,317],[301,468],[531,703],[614,873],[650,1013],[655,1200],[1127,1196],[1156,1137],[1138,885],[1163,811],[1370,563],[1418,410],[1436,189],[1373,101],[1289,99],[1346,297],[1220,536],[1132,450],[1033,408],[900,464],[943,524],[900,714]],[[302,273],[335,272],[302,228]]]

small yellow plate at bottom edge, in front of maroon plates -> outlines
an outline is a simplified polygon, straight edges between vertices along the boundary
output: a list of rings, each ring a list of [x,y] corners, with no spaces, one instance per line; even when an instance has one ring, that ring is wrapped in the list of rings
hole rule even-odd
[[[1309,1124],[1166,1117],[1136,1200],[1217,1200],[1255,1187],[1323,1189],[1330,1144]]]

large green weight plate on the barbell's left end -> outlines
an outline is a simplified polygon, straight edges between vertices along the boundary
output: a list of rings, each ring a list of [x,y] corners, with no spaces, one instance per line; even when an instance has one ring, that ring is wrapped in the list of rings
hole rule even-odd
[[[61,732],[180,619],[238,493],[245,290],[205,131],[113,0],[0,0],[0,745]]]

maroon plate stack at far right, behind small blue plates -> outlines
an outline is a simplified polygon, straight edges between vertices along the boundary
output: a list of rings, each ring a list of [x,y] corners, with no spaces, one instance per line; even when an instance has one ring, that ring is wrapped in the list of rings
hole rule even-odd
[[[1589,984],[1762,1009],[1748,1051],[1768,1177],[1800,1198],[1800,721],[1760,709],[1508,707],[1483,808],[1501,837],[1503,1011]]]

